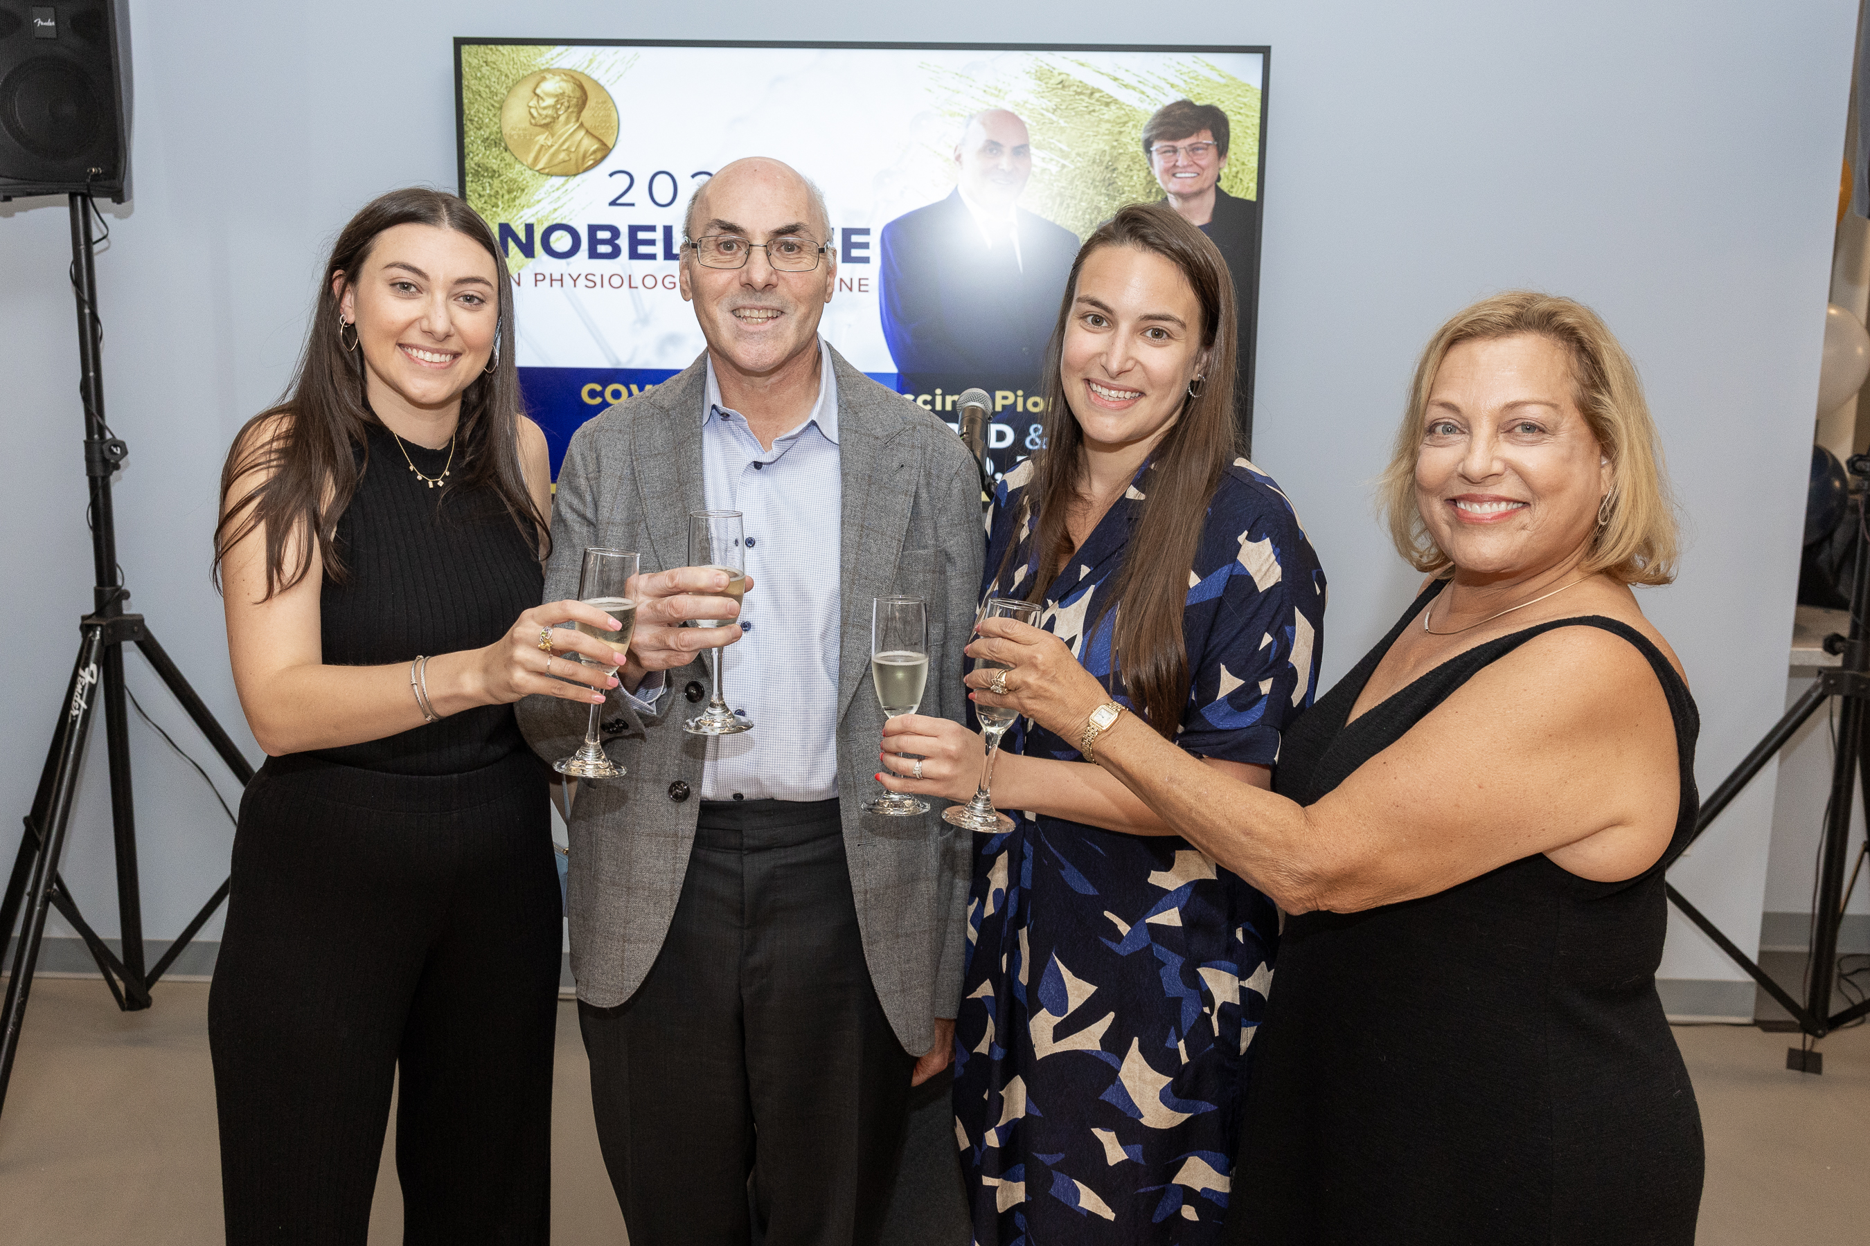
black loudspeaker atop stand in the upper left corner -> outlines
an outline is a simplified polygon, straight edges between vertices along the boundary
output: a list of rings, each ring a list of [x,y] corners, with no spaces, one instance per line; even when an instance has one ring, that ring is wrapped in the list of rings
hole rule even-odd
[[[0,0],[0,200],[127,200],[129,105],[129,0]]]

